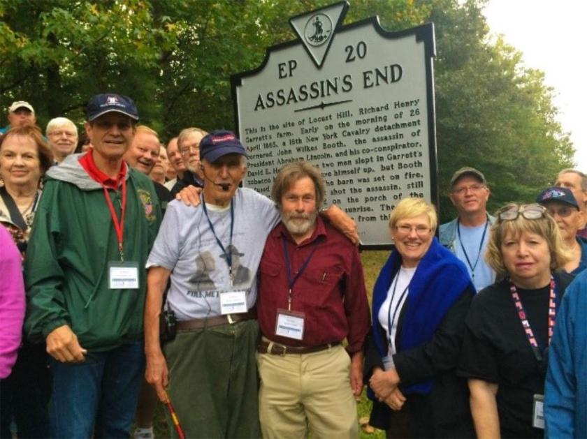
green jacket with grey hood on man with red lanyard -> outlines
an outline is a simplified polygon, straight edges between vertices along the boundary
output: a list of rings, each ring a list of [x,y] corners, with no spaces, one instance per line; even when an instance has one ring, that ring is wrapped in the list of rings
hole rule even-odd
[[[137,290],[110,290],[108,262],[118,241],[102,186],[82,168],[79,154],[47,173],[24,262],[25,329],[45,338],[69,325],[82,348],[109,350],[143,337],[145,262],[161,223],[152,181],[127,168],[124,260],[138,263]],[[117,217],[122,191],[108,191]]]

